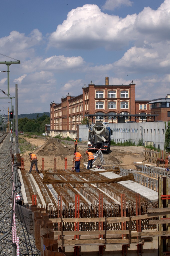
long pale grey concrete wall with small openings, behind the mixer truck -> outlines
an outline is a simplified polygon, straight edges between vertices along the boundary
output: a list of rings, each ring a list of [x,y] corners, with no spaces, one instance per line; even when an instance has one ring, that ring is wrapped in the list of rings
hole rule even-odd
[[[167,125],[167,122],[166,122]],[[154,144],[155,147],[164,149],[165,123],[164,122],[142,122],[142,123],[119,123],[108,124],[113,130],[111,139],[117,142],[132,140],[135,144],[143,137],[143,144]],[[88,126],[79,125],[79,140],[88,140]]]

